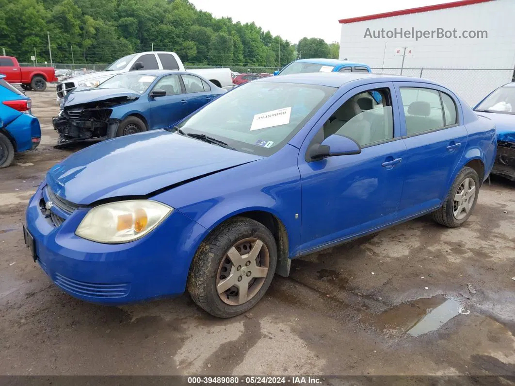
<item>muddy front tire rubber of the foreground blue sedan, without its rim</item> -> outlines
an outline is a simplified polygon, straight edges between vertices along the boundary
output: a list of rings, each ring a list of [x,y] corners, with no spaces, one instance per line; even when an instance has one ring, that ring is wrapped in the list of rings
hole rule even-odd
[[[218,269],[229,249],[246,238],[257,238],[268,248],[268,273],[253,297],[246,303],[233,306],[226,304],[218,295]],[[219,225],[198,247],[188,275],[187,290],[193,301],[211,315],[223,318],[236,316],[250,310],[263,297],[273,279],[276,265],[277,245],[268,228],[247,217],[235,217]]]

